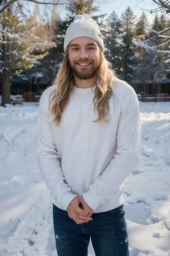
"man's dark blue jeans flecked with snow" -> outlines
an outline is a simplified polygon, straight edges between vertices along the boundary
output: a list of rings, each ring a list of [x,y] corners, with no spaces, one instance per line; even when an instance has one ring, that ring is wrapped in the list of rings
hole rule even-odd
[[[92,215],[77,225],[66,211],[53,205],[53,224],[58,256],[88,256],[91,237],[96,256],[129,256],[123,205]]]

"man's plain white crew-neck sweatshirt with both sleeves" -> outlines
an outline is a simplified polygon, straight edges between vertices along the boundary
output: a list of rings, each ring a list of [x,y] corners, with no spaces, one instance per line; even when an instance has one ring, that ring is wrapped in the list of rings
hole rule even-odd
[[[140,108],[135,91],[121,80],[113,83],[111,120],[106,123],[92,122],[97,119],[95,86],[74,87],[63,121],[56,126],[48,110],[54,89],[49,87],[41,96],[36,137],[39,170],[52,202],[66,210],[75,196],[83,196],[94,212],[120,206],[123,182],[140,155]]]

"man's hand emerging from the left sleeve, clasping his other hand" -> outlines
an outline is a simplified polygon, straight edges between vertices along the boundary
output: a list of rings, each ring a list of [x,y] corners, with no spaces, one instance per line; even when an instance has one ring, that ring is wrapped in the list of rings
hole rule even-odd
[[[79,205],[80,205],[80,198],[77,196],[71,201],[71,203],[67,207],[67,212],[69,214],[69,217],[75,220],[77,224],[80,224],[80,223],[82,224],[82,223],[88,222],[89,220],[92,220],[91,218],[92,214],[83,216],[85,215],[84,210],[81,209]]]

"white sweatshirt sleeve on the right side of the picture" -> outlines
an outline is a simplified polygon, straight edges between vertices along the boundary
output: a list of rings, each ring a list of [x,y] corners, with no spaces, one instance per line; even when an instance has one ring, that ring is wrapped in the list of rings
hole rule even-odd
[[[117,128],[117,151],[114,158],[82,196],[95,211],[112,198],[127,176],[136,167],[141,146],[141,120],[137,95],[131,95],[121,106]]]

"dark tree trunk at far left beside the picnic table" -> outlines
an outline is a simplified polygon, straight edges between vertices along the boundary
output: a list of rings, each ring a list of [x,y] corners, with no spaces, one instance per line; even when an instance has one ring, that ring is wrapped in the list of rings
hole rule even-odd
[[[10,104],[10,72],[6,70],[5,75],[2,78],[2,102],[1,106],[5,104]]]

